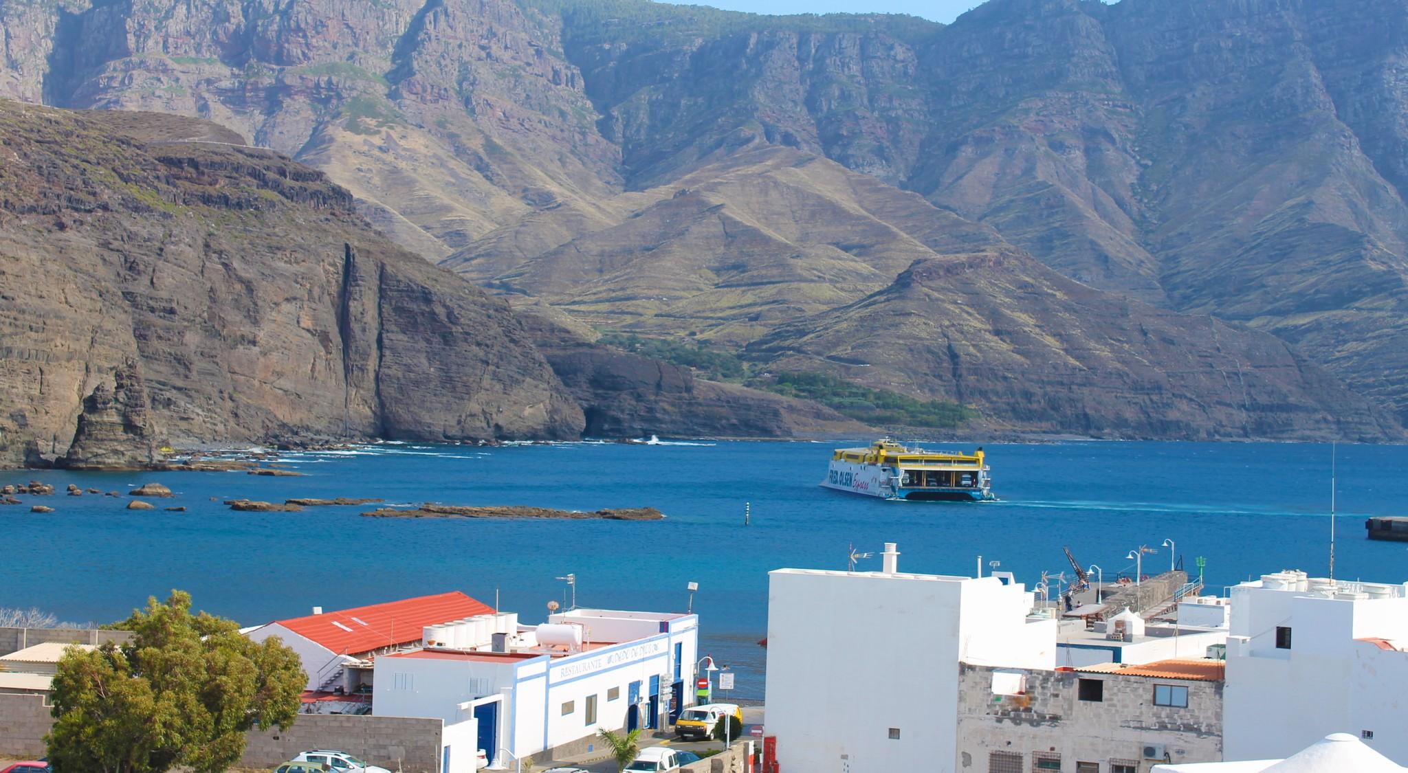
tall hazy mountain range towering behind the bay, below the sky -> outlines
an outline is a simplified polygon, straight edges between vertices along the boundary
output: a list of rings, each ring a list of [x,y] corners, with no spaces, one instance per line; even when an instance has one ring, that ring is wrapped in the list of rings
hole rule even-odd
[[[1401,0],[990,0],[950,25],[646,0],[0,0],[0,93],[228,125],[324,170],[401,245],[598,327],[738,348],[915,260],[1025,253],[1226,322],[1207,329],[1238,346],[1271,334],[1408,420]],[[1295,415],[1362,424],[1345,411]],[[1177,432],[1246,427],[1198,421]]]

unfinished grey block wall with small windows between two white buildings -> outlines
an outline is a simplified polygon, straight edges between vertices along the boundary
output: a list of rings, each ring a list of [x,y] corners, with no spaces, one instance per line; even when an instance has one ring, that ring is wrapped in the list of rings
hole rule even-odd
[[[1048,670],[1028,672],[1022,696],[994,696],[993,672],[959,666],[960,773],[987,773],[991,752],[1022,755],[1022,770],[1043,752],[1060,755],[1062,770],[1122,760],[1145,772],[1163,762],[1143,759],[1146,743],[1163,743],[1174,763],[1222,759],[1221,681]],[[1081,679],[1104,681],[1104,700],[1079,700]],[[1188,707],[1153,705],[1155,684],[1188,687]]]

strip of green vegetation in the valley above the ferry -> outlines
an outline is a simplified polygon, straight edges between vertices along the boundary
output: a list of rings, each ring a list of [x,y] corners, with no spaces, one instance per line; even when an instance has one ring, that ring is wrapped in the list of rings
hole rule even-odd
[[[607,332],[597,341],[642,356],[693,367],[698,376],[821,403],[834,411],[877,427],[955,428],[977,411],[948,400],[918,400],[897,391],[872,389],[825,373],[765,372],[732,352],[693,341],[642,338]]]

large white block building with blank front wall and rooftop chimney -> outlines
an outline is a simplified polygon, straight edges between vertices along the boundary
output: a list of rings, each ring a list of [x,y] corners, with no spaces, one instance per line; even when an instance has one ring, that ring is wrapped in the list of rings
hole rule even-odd
[[[1056,666],[1056,621],[997,577],[769,573],[767,735],[790,772],[952,772],[959,663]]]

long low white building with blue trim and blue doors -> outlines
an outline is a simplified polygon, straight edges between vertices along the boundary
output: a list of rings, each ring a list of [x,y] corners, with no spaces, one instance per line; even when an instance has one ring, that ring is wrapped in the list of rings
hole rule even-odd
[[[428,632],[431,646],[373,660],[372,712],[477,721],[490,758],[587,752],[598,729],[660,728],[693,703],[697,635],[693,614],[610,610],[555,614],[491,641]]]

